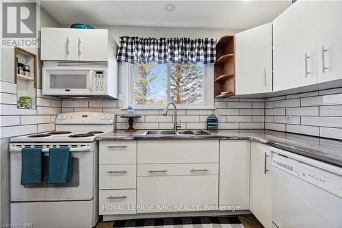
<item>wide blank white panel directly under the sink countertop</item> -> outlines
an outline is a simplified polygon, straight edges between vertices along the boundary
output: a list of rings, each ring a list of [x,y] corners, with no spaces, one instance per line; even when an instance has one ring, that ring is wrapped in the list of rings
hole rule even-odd
[[[218,162],[218,140],[140,140],[138,164]]]

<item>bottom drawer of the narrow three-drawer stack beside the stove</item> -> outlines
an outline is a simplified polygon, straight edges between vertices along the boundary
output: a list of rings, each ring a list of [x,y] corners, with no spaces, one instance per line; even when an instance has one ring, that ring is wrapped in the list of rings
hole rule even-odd
[[[135,214],[136,190],[99,190],[98,213]]]

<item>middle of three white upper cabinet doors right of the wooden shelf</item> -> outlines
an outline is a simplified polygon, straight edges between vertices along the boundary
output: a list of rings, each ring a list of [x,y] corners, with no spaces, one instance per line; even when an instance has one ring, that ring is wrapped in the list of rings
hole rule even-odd
[[[297,1],[273,21],[274,91],[317,83],[315,1]]]

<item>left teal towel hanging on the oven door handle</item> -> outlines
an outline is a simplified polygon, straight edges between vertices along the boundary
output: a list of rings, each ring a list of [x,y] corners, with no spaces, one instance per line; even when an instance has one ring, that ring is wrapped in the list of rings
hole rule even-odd
[[[21,184],[40,183],[42,181],[42,149],[21,149]]]

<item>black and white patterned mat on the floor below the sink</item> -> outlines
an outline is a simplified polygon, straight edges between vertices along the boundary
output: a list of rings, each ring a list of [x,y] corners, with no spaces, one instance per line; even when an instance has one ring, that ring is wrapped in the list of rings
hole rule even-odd
[[[146,218],[116,220],[114,228],[123,227],[166,227],[172,228],[244,228],[237,217],[187,217],[187,218]]]

